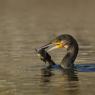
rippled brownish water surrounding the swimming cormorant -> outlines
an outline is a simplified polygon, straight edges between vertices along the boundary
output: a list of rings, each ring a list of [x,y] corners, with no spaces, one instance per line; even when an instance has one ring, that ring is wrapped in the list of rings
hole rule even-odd
[[[75,63],[95,64],[94,5],[87,0],[0,0],[0,95],[94,95],[95,72],[44,75],[34,50],[69,33],[80,46]],[[51,52],[56,63],[62,50]]]

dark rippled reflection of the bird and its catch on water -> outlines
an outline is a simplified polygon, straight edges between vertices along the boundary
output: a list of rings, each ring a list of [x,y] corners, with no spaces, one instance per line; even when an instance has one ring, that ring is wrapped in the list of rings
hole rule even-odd
[[[57,70],[58,72],[61,71],[61,77],[63,76],[65,81],[78,81],[77,71],[75,68],[73,69],[64,69],[61,66],[56,66],[53,68],[44,67],[41,69],[42,72],[42,79],[44,82],[51,81],[51,77],[54,76],[56,73],[54,71]]]

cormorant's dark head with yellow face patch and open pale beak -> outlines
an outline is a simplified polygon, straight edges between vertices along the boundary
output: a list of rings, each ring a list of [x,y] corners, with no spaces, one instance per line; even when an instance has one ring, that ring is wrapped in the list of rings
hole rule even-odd
[[[42,46],[40,49],[48,49],[47,51],[52,51],[58,48],[68,49],[68,47],[73,43],[73,41],[74,38],[68,34],[60,35],[50,41],[48,44]]]

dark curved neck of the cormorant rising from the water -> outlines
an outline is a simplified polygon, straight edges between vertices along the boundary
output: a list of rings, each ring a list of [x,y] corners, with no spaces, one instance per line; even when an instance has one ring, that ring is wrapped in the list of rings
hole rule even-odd
[[[67,54],[62,59],[61,65],[64,68],[72,68],[74,67],[74,61],[78,54],[78,44],[73,44],[68,47]]]

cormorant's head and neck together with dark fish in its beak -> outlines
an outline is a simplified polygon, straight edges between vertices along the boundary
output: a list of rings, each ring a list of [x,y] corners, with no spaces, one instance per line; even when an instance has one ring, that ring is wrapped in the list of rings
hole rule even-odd
[[[48,48],[49,50],[46,51]],[[79,50],[77,41],[71,35],[64,34],[56,37],[54,40],[41,48],[36,49],[36,51],[40,54],[41,60],[48,62],[49,66],[52,66],[55,65],[55,62],[51,59],[48,51],[56,48],[67,49],[67,54],[63,57],[60,65],[65,69],[72,69]]]

